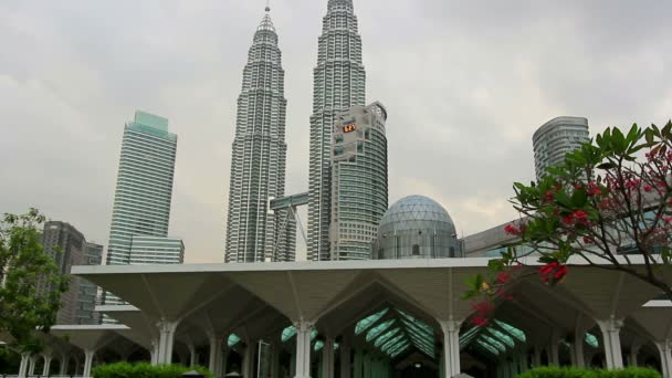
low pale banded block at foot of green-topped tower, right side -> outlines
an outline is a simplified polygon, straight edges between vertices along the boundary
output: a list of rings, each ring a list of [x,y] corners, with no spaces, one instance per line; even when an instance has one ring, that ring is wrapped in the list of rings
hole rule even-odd
[[[130,264],[182,264],[185,243],[179,238],[133,235]]]

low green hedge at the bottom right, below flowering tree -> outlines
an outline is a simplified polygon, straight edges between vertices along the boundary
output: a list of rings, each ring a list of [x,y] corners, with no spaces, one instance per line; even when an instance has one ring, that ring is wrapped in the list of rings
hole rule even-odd
[[[620,370],[581,369],[577,367],[538,367],[525,371],[519,378],[661,378],[650,368],[629,367]]]

